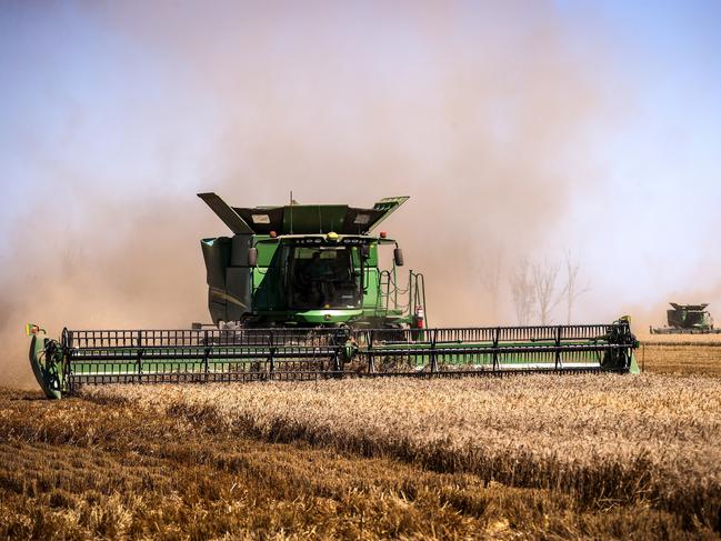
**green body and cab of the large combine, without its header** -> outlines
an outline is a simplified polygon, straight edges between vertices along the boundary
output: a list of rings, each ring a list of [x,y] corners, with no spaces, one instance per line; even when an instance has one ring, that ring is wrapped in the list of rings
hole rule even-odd
[[[422,310],[422,275],[411,271],[411,287],[401,292],[395,285],[401,249],[385,232],[372,234],[407,197],[370,209],[237,208],[214,193],[199,197],[234,233],[201,241],[213,324],[401,328],[414,323],[409,307]],[[381,270],[380,252],[390,248],[392,268]]]

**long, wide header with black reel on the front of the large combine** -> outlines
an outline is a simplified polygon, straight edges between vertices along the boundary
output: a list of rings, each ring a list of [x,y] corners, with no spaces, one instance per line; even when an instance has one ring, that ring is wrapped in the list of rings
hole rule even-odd
[[[106,383],[638,372],[628,320],[455,329],[63,330],[32,334],[48,398]]]

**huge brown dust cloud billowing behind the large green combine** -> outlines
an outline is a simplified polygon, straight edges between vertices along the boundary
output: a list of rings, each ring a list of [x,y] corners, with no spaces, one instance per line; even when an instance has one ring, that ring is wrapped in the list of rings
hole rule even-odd
[[[384,229],[425,274],[430,323],[512,322],[509,299],[489,310],[479,268],[553,236],[587,132],[608,121],[603,43],[592,62],[577,57],[552,3],[81,11],[100,62],[120,73],[110,87],[86,77],[117,99],[73,103],[74,152],[29,144],[46,180],[8,231],[0,384],[32,382],[26,321],[51,335],[208,321],[199,239],[228,231],[199,191],[236,206],[282,203],[291,190],[354,206],[411,196]],[[117,123],[93,131],[108,107]],[[102,161],[82,152],[106,133]]]

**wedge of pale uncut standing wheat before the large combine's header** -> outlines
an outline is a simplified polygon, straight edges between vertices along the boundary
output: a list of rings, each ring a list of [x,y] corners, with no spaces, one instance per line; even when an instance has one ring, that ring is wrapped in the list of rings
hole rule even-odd
[[[662,375],[324,381],[87,391],[213,431],[389,455],[719,528],[721,381]]]

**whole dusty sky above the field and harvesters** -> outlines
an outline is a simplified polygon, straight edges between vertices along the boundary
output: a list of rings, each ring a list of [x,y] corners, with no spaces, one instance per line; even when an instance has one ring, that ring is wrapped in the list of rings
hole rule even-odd
[[[194,193],[291,189],[411,196],[389,228],[448,321],[491,254],[567,250],[580,320],[721,319],[719,28],[718,1],[2,2],[0,327],[207,319],[227,231]]]

